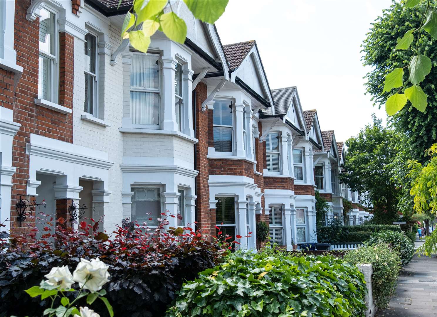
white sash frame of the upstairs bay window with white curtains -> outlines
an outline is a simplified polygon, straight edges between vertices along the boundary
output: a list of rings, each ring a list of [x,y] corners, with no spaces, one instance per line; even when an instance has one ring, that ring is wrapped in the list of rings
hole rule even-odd
[[[132,54],[132,63],[133,63],[133,55],[144,55],[146,53],[142,53],[142,52],[137,52],[135,51],[134,48],[131,48],[131,50],[129,51]],[[147,52],[147,55],[157,55],[160,58],[158,59],[158,88],[140,88],[140,87],[134,87],[132,88],[131,84],[130,84],[130,78],[129,78],[129,111],[130,111],[130,117],[131,117],[131,124],[132,127],[134,128],[139,128],[139,129],[159,129],[160,128],[160,124],[159,122],[162,121],[162,117],[163,117],[163,105],[162,105],[162,99],[161,99],[161,94],[162,94],[162,90],[163,90],[163,84],[162,84],[162,80],[163,80],[163,76],[162,76],[162,71],[161,71],[161,54],[158,52]],[[129,69],[129,76],[131,74],[131,70]],[[130,93],[132,91],[137,91],[137,92],[141,92],[141,93],[157,93],[158,94],[158,124],[135,124],[132,122],[132,104],[130,103]],[[174,93],[174,92],[172,92]]]

